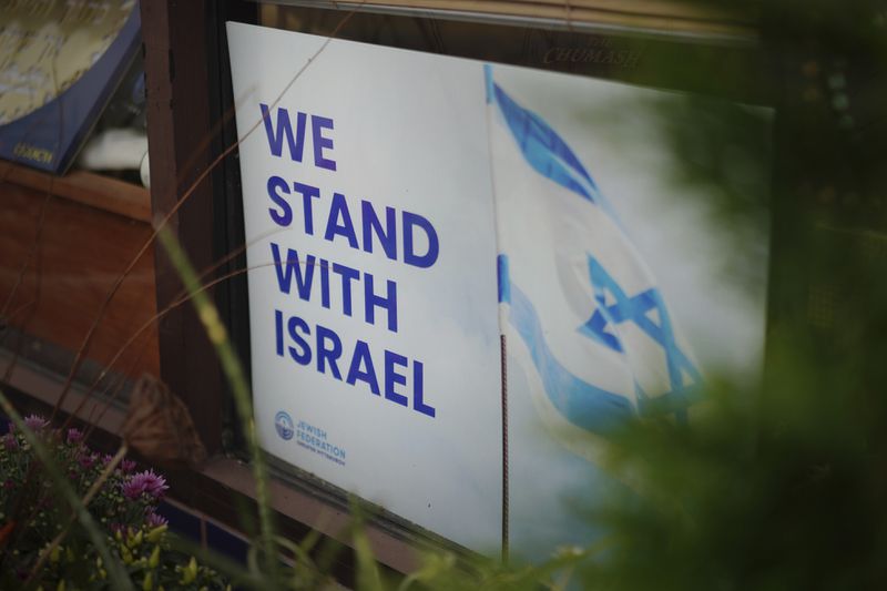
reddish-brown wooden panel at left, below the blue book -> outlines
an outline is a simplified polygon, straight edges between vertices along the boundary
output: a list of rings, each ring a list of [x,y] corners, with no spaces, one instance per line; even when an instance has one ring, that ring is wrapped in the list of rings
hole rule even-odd
[[[89,172],[53,177],[0,161],[0,314],[38,339],[31,354],[43,355],[43,340],[73,355],[132,267],[88,351],[93,361],[111,364],[157,313],[153,248],[133,264],[152,234],[147,191]],[[115,370],[133,377],[160,371],[156,327],[145,333],[121,354]],[[18,339],[6,338],[3,346],[16,350]]]

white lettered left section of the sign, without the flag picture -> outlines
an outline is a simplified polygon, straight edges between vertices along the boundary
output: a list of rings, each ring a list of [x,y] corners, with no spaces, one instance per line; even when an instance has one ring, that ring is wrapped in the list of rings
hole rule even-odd
[[[284,93],[325,39],[235,23],[228,39],[239,132],[268,113],[239,146],[263,447],[489,549],[501,384],[482,73],[332,42]]]

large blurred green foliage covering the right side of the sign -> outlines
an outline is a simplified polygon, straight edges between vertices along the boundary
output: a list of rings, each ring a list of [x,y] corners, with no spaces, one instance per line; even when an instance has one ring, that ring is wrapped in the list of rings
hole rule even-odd
[[[578,516],[601,529],[599,551],[509,569],[434,554],[414,575],[428,587],[528,572],[558,588],[572,572],[568,585],[608,591],[887,588],[887,3],[694,3],[753,23],[761,71],[706,49],[654,61],[659,79],[705,79],[721,96],[757,81],[768,88],[740,90],[776,108],[772,143],[753,111],[711,96],[656,113],[673,181],[706,200],[716,231],[769,214],[763,379],[710,375],[687,427],[648,420],[613,437],[604,468],[630,486]],[[771,159],[773,179],[750,174]]]

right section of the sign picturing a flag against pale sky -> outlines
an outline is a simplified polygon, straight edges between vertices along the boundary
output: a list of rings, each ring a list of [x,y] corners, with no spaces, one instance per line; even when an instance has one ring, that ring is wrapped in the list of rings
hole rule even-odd
[[[671,184],[650,109],[670,93],[503,65],[488,67],[485,83],[511,547],[547,556],[593,537],[577,505],[622,486],[597,466],[608,429],[643,416],[645,399],[681,408],[703,370],[757,375],[766,244],[737,253],[704,200]],[[630,124],[601,116],[616,112]],[[723,277],[736,265],[762,278],[759,292]]]

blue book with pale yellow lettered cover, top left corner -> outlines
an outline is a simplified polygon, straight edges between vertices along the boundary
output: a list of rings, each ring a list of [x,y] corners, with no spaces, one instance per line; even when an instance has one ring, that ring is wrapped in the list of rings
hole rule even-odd
[[[137,3],[104,4],[101,13],[85,13],[84,8],[75,13],[69,7],[54,22],[49,22],[54,14],[30,13],[2,23],[0,53],[6,58],[0,64],[0,95],[6,94],[7,99],[0,99],[0,159],[53,174],[63,174],[74,161],[141,41]],[[128,12],[123,13],[123,27],[102,33],[110,41],[106,49],[101,53],[94,48],[89,53],[86,49],[85,59],[91,65],[73,65],[65,72],[65,60],[70,60],[65,53],[83,52],[84,43],[78,35],[84,28],[102,19],[108,22],[113,11],[120,14],[123,10]],[[93,28],[91,32],[94,31]],[[48,57],[50,50],[54,53]],[[61,84],[63,90],[48,94],[50,83]]]

